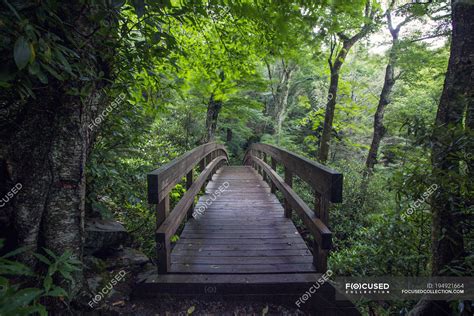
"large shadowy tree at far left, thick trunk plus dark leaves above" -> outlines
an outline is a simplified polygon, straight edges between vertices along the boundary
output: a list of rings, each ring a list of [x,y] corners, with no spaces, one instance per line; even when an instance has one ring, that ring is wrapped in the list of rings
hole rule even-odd
[[[115,36],[95,19],[107,8],[4,3],[1,37],[10,45],[0,48],[7,69],[0,95],[0,187],[2,194],[18,183],[22,188],[2,209],[2,230],[14,232],[2,237],[28,247],[21,259],[31,266],[40,247],[69,250],[80,259],[84,170],[97,132],[89,126],[106,107],[101,89],[113,78],[108,43]]]

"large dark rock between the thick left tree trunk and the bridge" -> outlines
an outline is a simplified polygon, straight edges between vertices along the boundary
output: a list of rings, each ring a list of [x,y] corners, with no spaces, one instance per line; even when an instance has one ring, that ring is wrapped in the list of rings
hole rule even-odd
[[[85,232],[86,255],[116,250],[130,239],[125,227],[114,220],[91,219],[86,222]]]

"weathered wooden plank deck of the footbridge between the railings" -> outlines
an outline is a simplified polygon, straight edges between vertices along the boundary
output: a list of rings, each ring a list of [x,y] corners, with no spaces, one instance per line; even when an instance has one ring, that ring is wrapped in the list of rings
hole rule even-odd
[[[223,193],[215,194],[224,186]],[[313,256],[293,222],[253,168],[221,168],[195,209],[202,207],[203,215],[188,220],[171,251],[169,273],[316,272]]]

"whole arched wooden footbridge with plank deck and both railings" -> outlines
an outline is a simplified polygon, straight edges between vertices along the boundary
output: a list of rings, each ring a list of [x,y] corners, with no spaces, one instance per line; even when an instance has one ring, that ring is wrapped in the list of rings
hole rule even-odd
[[[314,209],[293,191],[294,177],[313,189]],[[186,193],[170,211],[170,192],[184,178]],[[297,299],[327,270],[328,210],[342,201],[342,184],[341,173],[267,144],[252,144],[243,166],[228,166],[228,153],[217,143],[187,152],[148,174],[158,273],[136,293]],[[313,237],[309,246],[293,224],[293,212]],[[347,302],[336,304],[334,295],[324,284],[312,297],[312,308],[325,315],[357,314]]]

